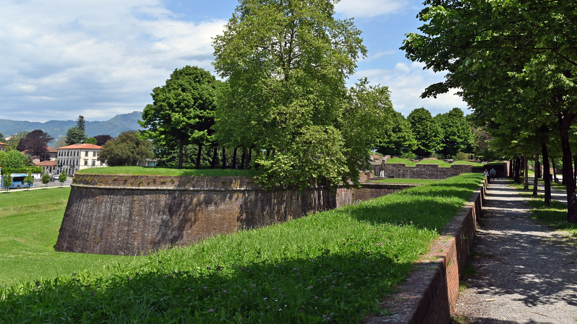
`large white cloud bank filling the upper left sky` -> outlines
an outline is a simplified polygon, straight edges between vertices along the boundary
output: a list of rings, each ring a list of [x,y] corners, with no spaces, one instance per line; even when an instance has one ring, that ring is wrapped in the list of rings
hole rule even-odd
[[[142,110],[174,69],[211,69],[225,23],[178,20],[160,0],[12,1],[0,17],[0,118],[38,121]]]

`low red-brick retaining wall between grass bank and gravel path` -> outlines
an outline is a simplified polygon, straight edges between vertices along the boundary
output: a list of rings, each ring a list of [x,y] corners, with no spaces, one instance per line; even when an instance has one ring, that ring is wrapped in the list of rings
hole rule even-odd
[[[367,318],[363,323],[448,324],[459,296],[459,273],[467,262],[484,203],[486,183],[475,191],[461,211],[443,228],[430,252],[415,264],[415,270],[381,304],[394,314]]]

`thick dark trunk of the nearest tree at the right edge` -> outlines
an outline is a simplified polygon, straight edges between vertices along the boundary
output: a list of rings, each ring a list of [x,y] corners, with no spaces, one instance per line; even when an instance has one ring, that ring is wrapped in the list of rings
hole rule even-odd
[[[573,155],[569,146],[569,128],[573,122],[572,118],[564,118],[560,121],[559,133],[561,135],[561,150],[563,151],[563,179],[572,179]],[[561,121],[563,123],[561,123]],[[577,222],[577,198],[575,197],[575,182],[565,181],[567,187],[567,222]]]

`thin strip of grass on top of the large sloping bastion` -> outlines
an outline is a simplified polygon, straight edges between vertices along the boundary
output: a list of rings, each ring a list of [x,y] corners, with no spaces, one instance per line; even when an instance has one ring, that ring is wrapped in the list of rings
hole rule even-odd
[[[161,167],[104,167],[76,171],[77,174],[164,175],[164,176],[255,176],[253,169],[177,169]]]

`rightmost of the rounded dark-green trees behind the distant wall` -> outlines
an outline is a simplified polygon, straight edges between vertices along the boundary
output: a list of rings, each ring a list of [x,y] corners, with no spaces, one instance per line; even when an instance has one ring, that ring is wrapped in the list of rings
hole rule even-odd
[[[443,148],[437,153],[441,153],[447,159],[467,147],[473,134],[471,134],[471,126],[460,108],[453,108],[445,114],[436,115],[434,119],[443,130],[443,140],[441,140]]]

